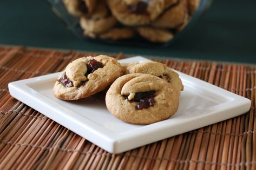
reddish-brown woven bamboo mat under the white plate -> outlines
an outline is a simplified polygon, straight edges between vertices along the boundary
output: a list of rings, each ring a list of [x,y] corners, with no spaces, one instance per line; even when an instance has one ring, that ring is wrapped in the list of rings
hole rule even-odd
[[[104,151],[10,96],[9,82],[61,71],[89,55],[95,54],[0,46],[0,169],[256,169],[256,66],[160,61],[251,99],[251,110],[122,154]]]

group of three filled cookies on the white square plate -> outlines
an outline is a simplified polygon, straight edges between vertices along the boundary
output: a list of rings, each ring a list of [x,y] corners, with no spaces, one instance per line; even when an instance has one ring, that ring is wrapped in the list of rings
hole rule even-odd
[[[69,63],[53,88],[62,100],[78,100],[103,90],[108,90],[106,105],[116,118],[132,124],[152,124],[178,110],[183,85],[179,74],[164,64],[121,65],[115,58],[100,55]]]

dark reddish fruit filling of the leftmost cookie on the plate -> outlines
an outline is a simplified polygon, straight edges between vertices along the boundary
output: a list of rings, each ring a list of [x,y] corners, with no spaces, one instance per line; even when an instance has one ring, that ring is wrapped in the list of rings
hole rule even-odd
[[[87,65],[87,72],[86,72],[86,74],[84,74],[84,76],[86,76],[86,77],[88,76],[88,74],[93,73],[97,69],[104,67],[104,65],[101,62],[97,62],[96,59],[89,60],[89,62],[86,65]],[[62,74],[60,79],[57,79],[57,81],[59,83],[62,83],[65,87],[73,87],[74,86],[73,81],[71,81],[67,77],[65,72]],[[85,85],[85,84],[86,84],[86,81],[82,81],[80,86]],[[78,87],[80,87],[80,86],[78,86]]]

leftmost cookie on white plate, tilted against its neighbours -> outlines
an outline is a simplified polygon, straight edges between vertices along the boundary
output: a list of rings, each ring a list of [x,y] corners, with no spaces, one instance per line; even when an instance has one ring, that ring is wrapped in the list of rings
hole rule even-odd
[[[53,92],[63,100],[77,100],[104,90],[123,74],[115,58],[100,55],[69,63],[58,77]]]

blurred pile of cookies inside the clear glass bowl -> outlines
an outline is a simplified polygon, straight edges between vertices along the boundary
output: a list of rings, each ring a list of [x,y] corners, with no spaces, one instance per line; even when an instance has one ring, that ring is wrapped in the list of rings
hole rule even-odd
[[[80,17],[84,35],[101,39],[136,36],[154,43],[169,42],[191,20],[200,0],[63,0]]]

